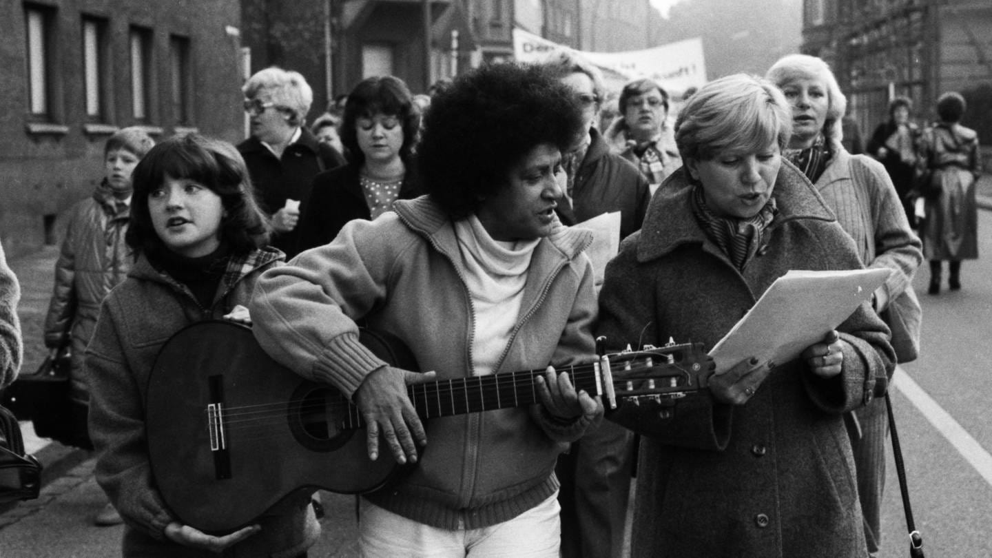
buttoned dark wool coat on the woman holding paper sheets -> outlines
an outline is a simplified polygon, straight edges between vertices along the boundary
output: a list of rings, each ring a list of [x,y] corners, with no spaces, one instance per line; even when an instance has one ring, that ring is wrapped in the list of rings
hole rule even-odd
[[[702,342],[711,349],[790,269],[861,262],[812,185],[783,162],[779,213],[739,272],[696,223],[682,170],[654,198],[640,232],[607,266],[596,335],[611,346]],[[854,462],[841,414],[891,375],[889,330],[868,303],[839,328],[841,373],[781,362],[744,405],[704,390],[642,437],[633,556],[863,556]]]

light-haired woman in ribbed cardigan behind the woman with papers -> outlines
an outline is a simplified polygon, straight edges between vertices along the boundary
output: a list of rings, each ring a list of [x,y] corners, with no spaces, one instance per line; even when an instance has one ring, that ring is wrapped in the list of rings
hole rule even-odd
[[[841,145],[841,118],[847,99],[822,60],[807,55],[782,58],[766,77],[785,93],[793,109],[793,136],[786,157],[833,210],[854,239],[866,267],[891,269],[875,292],[878,313],[906,293],[915,305],[913,275],[923,261],[920,238],[910,228],[892,179],[885,167],[865,155],[851,155]],[[885,402],[875,399],[848,417],[858,475],[858,494],[865,517],[869,553],[881,543],[880,502],[885,486]]]

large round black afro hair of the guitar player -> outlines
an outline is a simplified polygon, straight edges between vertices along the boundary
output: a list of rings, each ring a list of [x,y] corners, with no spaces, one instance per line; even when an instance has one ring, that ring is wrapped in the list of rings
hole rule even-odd
[[[540,66],[468,71],[437,93],[417,147],[420,184],[451,219],[508,184],[514,165],[543,144],[564,153],[582,129],[571,90]]]

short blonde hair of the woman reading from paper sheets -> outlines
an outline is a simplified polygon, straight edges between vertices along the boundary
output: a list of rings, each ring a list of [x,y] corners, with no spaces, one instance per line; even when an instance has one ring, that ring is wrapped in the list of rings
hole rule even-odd
[[[735,73],[699,87],[676,120],[682,160],[709,160],[725,149],[757,152],[789,145],[793,116],[782,91],[757,75]]]

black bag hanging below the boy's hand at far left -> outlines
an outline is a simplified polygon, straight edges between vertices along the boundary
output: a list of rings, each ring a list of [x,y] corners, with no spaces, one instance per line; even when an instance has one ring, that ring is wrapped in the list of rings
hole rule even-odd
[[[38,436],[92,450],[86,426],[89,409],[69,396],[70,369],[68,349],[53,350],[34,373],[18,376],[2,404],[19,419],[30,420]]]

